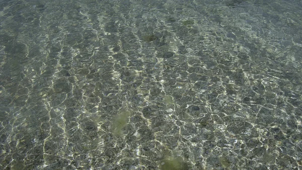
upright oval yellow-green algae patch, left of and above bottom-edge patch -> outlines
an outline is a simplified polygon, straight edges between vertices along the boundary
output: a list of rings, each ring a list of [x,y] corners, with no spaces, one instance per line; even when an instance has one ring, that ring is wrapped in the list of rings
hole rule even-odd
[[[132,115],[130,111],[121,111],[114,119],[112,123],[111,131],[114,135],[122,135],[122,130],[127,126],[129,117]]]

